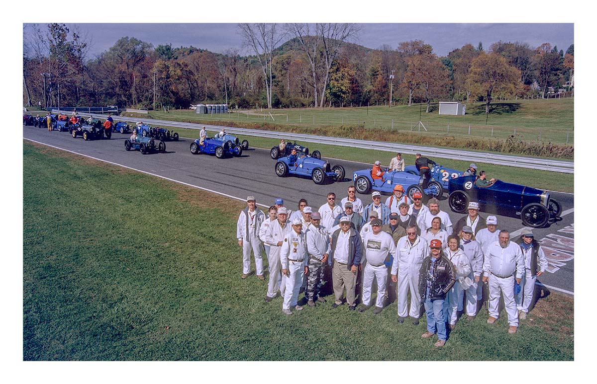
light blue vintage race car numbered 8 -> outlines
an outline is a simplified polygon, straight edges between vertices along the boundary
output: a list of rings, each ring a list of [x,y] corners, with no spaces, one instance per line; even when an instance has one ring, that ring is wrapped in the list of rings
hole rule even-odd
[[[406,168],[405,168],[406,169]],[[370,193],[371,190],[385,193],[393,193],[396,185],[402,185],[410,199],[413,199],[415,192],[420,192],[426,197],[438,197],[444,191],[439,181],[430,181],[426,189],[423,190],[423,178],[412,172],[387,171],[383,179],[373,179],[371,177],[372,169],[362,169],[356,171],[352,179],[355,182],[355,188],[358,193]]]

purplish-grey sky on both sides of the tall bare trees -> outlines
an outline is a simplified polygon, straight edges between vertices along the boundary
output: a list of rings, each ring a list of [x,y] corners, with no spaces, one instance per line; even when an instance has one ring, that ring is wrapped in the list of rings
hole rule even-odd
[[[73,24],[67,24],[72,26]],[[149,42],[156,47],[159,44],[172,44],[172,47],[189,47],[208,49],[223,53],[227,49],[242,48],[242,39],[236,24],[76,24],[82,35],[87,33],[91,40],[90,58],[106,51],[115,42],[129,36]],[[470,43],[475,47],[482,42],[487,50],[497,41],[520,41],[528,43],[531,48],[547,42],[564,51],[574,44],[574,24],[572,23],[367,23],[361,24],[362,32],[356,44],[367,48],[379,48],[388,44],[396,48],[399,42],[415,39],[432,45],[433,51],[445,56],[451,50]]]

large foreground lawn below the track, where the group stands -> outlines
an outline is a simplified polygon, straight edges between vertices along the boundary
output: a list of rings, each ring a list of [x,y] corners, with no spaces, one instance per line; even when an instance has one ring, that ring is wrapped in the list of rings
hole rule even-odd
[[[482,310],[447,345],[374,316],[287,317],[266,283],[241,280],[243,204],[23,144],[24,360],[573,360],[574,302],[541,298],[516,335]],[[217,208],[214,208],[217,207]]]

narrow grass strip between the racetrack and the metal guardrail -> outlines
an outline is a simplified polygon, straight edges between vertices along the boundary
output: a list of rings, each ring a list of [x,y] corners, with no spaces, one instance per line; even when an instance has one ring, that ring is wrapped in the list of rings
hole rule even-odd
[[[199,131],[197,129],[173,128],[182,137],[198,138]],[[216,134],[216,132],[209,132],[208,135]],[[279,140],[247,136],[243,137],[249,141],[251,148],[267,148],[270,149],[274,145],[280,143]],[[242,139],[241,139],[242,140]],[[373,164],[376,160],[380,160],[382,165],[389,165],[390,159],[396,156],[395,153],[386,151],[376,151],[364,148],[340,147],[338,145],[315,144],[315,143],[300,143],[309,147],[310,151],[319,150],[324,157],[333,157],[335,159],[351,160],[355,162],[364,162]],[[424,153],[424,152],[423,152]],[[424,156],[424,155],[423,155]],[[405,159],[407,165],[414,164],[414,153],[402,153],[402,158]],[[447,168],[461,169],[462,171],[469,168],[470,162],[462,160],[438,159],[432,158],[435,162],[444,165]],[[494,165],[490,163],[475,163],[478,166],[478,171],[487,171],[491,177],[513,182],[515,184],[528,185],[529,187],[541,188],[550,191],[561,191],[574,193],[574,174],[561,174],[559,172],[540,171],[538,169],[516,168],[503,165]],[[350,176],[350,175],[349,175]]]

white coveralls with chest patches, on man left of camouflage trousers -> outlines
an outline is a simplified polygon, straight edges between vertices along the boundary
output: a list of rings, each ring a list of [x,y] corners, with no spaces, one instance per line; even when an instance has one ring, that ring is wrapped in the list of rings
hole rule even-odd
[[[288,270],[288,276],[285,278],[285,292],[282,309],[290,309],[297,305],[298,292],[300,290],[304,267],[307,265],[307,244],[304,232],[296,233],[293,229],[284,238],[284,243],[280,247],[281,268]]]

